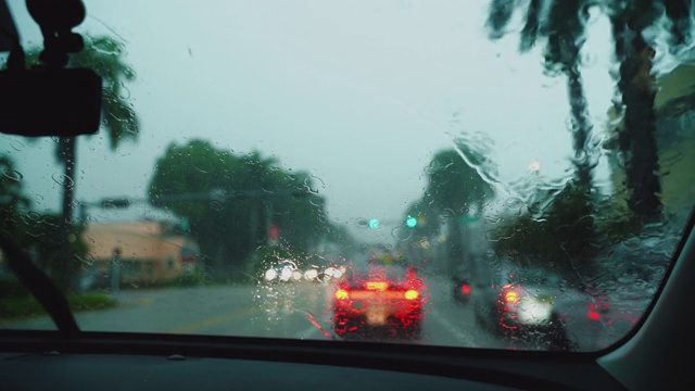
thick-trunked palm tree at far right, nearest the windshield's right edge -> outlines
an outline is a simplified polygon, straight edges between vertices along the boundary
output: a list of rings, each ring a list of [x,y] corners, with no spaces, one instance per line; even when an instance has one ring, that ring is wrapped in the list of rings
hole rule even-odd
[[[644,38],[644,30],[659,23],[661,8],[671,23],[669,43],[678,50],[692,40],[690,0],[610,1],[606,8],[615,56],[620,63],[618,104],[624,108],[618,148],[626,161],[628,205],[641,218],[658,217],[661,212],[654,104],[657,91],[649,73],[655,50]]]

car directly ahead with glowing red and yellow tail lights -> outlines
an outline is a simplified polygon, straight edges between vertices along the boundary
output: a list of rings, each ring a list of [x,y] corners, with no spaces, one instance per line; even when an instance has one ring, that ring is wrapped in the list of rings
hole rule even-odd
[[[391,255],[355,263],[333,293],[333,330],[343,339],[418,339],[425,283],[414,267]]]

